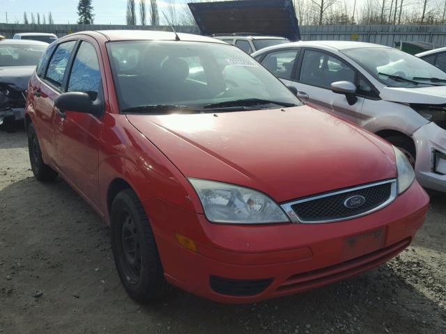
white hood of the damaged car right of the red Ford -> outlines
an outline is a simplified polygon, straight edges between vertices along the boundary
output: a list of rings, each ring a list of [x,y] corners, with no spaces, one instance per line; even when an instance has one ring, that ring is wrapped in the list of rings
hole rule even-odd
[[[381,89],[381,99],[400,103],[446,104],[446,86]]]

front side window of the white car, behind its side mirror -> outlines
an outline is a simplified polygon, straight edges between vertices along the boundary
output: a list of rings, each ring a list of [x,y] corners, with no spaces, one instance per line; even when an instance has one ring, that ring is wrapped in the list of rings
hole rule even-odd
[[[302,84],[330,88],[336,81],[355,82],[355,70],[339,58],[319,51],[305,51],[300,70]]]

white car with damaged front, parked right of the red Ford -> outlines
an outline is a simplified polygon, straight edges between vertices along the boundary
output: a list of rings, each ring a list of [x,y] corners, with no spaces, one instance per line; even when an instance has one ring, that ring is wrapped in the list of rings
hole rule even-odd
[[[297,88],[301,100],[399,147],[420,184],[446,192],[445,72],[403,51],[363,42],[293,42],[252,56]]]

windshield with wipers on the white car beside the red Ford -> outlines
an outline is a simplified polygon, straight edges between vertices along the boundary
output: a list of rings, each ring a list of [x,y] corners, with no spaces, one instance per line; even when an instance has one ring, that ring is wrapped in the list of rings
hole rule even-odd
[[[390,87],[423,87],[446,84],[446,73],[420,58],[387,47],[346,49],[344,54]]]

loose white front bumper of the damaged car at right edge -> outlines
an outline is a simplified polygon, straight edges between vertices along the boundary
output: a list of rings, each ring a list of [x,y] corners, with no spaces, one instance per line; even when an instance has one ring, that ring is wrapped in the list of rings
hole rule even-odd
[[[426,188],[446,192],[443,164],[439,170],[435,164],[436,152],[446,155],[446,130],[430,122],[417,129],[413,134],[413,141],[417,150],[415,173],[418,182]]]

